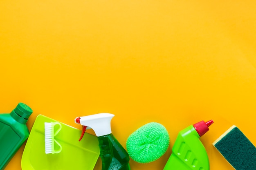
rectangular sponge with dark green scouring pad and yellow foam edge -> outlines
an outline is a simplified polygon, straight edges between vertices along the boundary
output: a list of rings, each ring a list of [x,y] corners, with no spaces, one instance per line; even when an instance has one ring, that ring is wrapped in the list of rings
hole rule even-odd
[[[216,139],[213,146],[236,170],[256,169],[256,148],[235,125]]]

